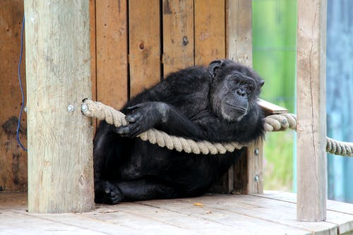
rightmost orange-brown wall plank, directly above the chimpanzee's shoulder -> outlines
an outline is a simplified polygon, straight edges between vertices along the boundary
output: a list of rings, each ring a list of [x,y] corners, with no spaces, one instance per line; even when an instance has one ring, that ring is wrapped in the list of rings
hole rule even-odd
[[[225,1],[195,0],[195,64],[225,58]]]

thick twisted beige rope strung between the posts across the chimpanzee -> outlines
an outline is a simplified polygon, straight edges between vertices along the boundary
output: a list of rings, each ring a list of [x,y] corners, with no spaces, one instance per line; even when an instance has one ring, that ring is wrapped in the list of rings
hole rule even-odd
[[[81,110],[85,116],[105,120],[116,127],[126,125],[125,115],[112,107],[92,100],[84,100]],[[297,117],[294,114],[273,114],[265,117],[265,131],[285,131],[287,128],[295,130]],[[169,150],[184,151],[188,153],[215,155],[225,152],[234,152],[236,149],[249,145],[249,143],[210,143],[209,141],[195,141],[151,128],[138,137]],[[353,156],[353,143],[341,142],[327,138],[326,151],[334,155]]]

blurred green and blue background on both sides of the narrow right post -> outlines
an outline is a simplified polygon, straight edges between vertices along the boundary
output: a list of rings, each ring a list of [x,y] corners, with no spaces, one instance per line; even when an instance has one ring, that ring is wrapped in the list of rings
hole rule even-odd
[[[353,142],[353,1],[328,0],[326,109],[331,138]],[[253,0],[253,67],[261,98],[295,113],[297,0]],[[296,188],[295,133],[268,133],[265,190]],[[353,157],[328,155],[328,198],[353,203]]]

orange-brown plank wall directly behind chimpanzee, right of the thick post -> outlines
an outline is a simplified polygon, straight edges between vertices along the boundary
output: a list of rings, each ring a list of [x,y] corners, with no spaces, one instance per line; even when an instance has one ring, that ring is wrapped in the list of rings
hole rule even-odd
[[[225,1],[90,4],[96,98],[116,109],[172,71],[225,58]]]

